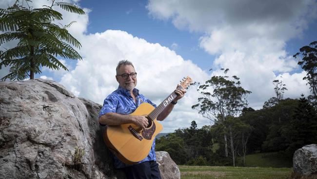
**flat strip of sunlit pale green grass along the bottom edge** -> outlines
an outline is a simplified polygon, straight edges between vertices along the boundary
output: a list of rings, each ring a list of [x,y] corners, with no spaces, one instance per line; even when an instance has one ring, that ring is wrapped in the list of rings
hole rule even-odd
[[[287,179],[292,168],[179,165],[181,179]]]

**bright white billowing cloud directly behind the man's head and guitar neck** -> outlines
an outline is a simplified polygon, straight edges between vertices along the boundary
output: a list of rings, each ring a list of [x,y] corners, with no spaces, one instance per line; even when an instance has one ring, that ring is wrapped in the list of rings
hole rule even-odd
[[[83,43],[83,60],[63,75],[60,83],[75,95],[91,99],[99,104],[118,88],[115,79],[119,60],[128,59],[138,72],[137,88],[157,105],[177,86],[179,80],[190,76],[195,81],[205,81],[207,73],[189,60],[184,60],[175,51],[159,44],[151,44],[120,30],[107,30],[89,34],[80,39]],[[191,109],[199,94],[189,89],[186,97],[179,101],[175,111],[163,121],[165,132],[189,126],[192,120],[200,121],[198,113]],[[181,121],[179,126],[175,121]],[[201,125],[209,124],[201,120]]]

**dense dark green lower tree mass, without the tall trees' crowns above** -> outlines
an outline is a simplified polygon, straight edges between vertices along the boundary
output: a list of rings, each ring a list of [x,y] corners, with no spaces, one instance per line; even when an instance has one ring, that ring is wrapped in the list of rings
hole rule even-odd
[[[228,136],[226,156],[224,135]],[[308,99],[281,99],[276,105],[260,110],[244,108],[238,117],[197,128],[196,121],[156,140],[158,151],[166,151],[177,164],[245,164],[245,156],[279,152],[292,160],[304,145],[317,143],[317,112]]]

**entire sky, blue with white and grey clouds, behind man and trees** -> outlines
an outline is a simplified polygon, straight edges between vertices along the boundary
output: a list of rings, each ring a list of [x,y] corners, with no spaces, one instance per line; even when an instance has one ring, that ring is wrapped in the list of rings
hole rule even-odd
[[[0,8],[15,0],[2,0]],[[282,80],[284,98],[310,94],[306,75],[293,55],[317,40],[317,0],[64,0],[85,15],[63,14],[63,25],[79,40],[81,61],[60,59],[69,71],[43,67],[35,78],[54,80],[76,96],[103,104],[118,88],[115,68],[130,60],[138,72],[137,88],[157,105],[190,76],[203,84],[220,68],[229,68],[241,86],[252,91],[248,107],[261,109],[274,96],[273,80]],[[33,7],[48,4],[33,0]],[[13,47],[17,42],[0,48]],[[209,70],[209,69],[213,70]],[[8,72],[2,67],[0,77]],[[191,106],[200,97],[187,90],[161,123],[162,133],[212,122]]]

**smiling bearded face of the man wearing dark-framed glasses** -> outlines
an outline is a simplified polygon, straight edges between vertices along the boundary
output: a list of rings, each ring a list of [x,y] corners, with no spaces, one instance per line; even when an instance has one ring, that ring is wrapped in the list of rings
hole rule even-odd
[[[129,75],[127,79],[123,79],[122,74],[131,74],[135,73],[136,70],[131,65],[120,66],[119,67],[119,75],[116,75],[116,79],[119,83],[119,86],[123,89],[132,91],[137,86],[137,77],[131,78]]]

